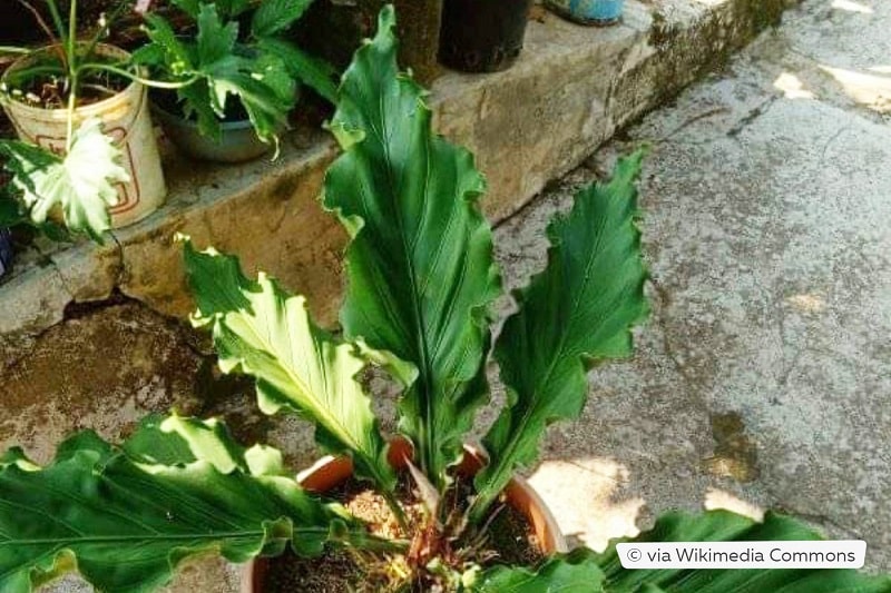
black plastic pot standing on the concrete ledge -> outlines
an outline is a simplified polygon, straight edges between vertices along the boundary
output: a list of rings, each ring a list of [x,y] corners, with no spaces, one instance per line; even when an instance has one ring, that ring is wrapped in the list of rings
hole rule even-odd
[[[444,0],[439,59],[464,72],[510,68],[522,51],[532,0]]]

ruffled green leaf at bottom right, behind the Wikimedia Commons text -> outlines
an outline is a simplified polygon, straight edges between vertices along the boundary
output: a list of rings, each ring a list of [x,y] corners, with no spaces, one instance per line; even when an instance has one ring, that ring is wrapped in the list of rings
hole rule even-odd
[[[803,523],[767,513],[763,523],[726,511],[669,513],[634,540],[614,542],[604,554],[579,548],[550,559],[538,571],[493,567],[468,589],[476,593],[889,593],[891,577],[853,570],[626,570],[617,543],[816,541]]]

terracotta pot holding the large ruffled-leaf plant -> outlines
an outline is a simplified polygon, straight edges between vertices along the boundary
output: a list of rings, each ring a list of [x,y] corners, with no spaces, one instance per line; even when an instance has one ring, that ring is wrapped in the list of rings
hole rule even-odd
[[[486,456],[479,449],[464,445],[464,455],[458,473],[462,476],[473,476],[486,464]],[[390,445],[390,464],[395,468],[403,468],[405,459],[411,458],[411,444],[403,439],[395,439]],[[325,493],[350,480],[353,475],[353,463],[346,457],[326,456],[319,459],[312,467],[297,474],[297,481],[309,492]],[[557,520],[535,490],[520,476],[513,478],[505,488],[507,503],[522,513],[532,526],[532,531],[541,545],[541,551],[550,555],[565,553],[569,546],[564,538]],[[262,593],[268,560],[258,560],[248,563],[242,572],[242,593]]]

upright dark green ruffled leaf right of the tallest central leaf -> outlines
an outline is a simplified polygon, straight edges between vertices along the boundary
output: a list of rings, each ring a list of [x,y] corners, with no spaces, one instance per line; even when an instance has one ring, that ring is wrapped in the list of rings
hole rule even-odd
[[[635,181],[642,152],[621,159],[613,179],[576,196],[568,216],[548,227],[548,265],[516,295],[495,357],[508,408],[483,439],[489,464],[476,478],[471,520],[520,465],[530,464],[546,426],[577,418],[588,394],[586,370],[631,354],[630,327],[647,313]]]

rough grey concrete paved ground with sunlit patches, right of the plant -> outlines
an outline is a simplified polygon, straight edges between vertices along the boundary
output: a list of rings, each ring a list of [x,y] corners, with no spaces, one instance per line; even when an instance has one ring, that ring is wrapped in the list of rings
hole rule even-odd
[[[862,537],[891,570],[889,30],[891,2],[805,2],[499,229],[518,284],[572,188],[655,145],[655,313],[532,476],[579,541],[709,498]]]

